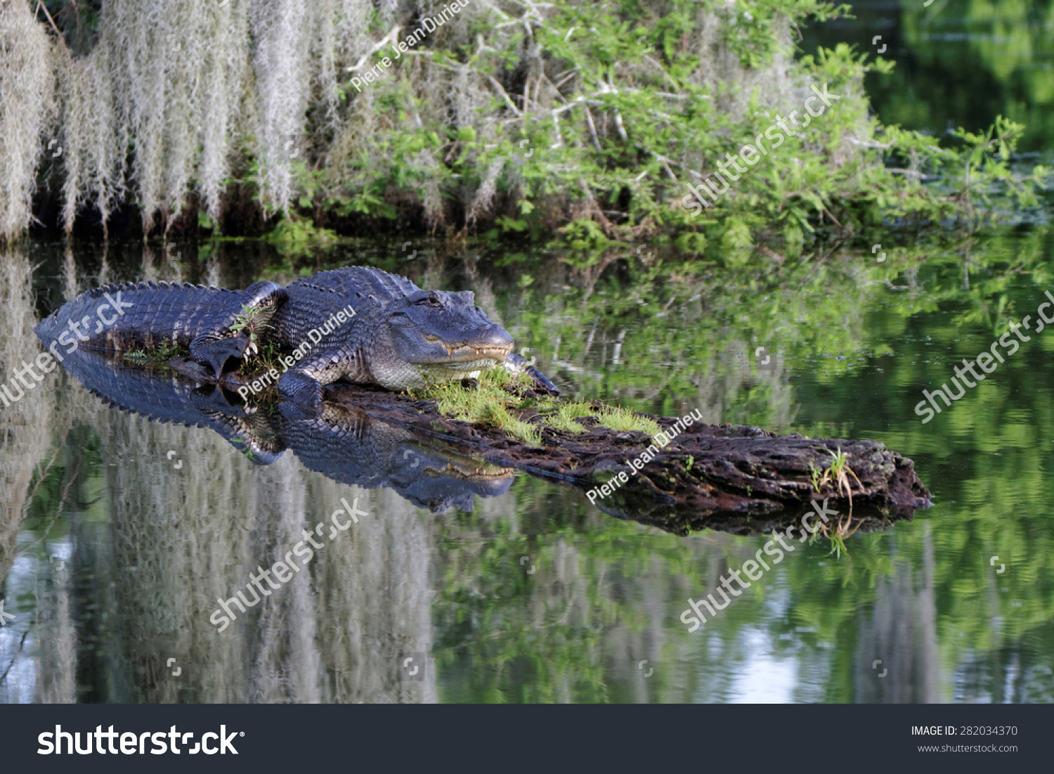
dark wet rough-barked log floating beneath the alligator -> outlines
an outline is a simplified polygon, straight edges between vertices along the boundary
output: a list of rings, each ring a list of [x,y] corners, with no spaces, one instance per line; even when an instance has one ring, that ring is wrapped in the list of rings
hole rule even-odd
[[[827,508],[843,519],[842,529],[872,531],[892,521],[911,519],[930,506],[930,492],[914,464],[875,441],[806,439],[777,436],[757,427],[692,424],[636,471],[630,460],[648,449],[643,432],[617,432],[588,426],[570,433],[540,428],[544,448],[509,439],[494,427],[472,425],[438,413],[433,401],[418,401],[351,385],[331,385],[327,401],[354,406],[390,424],[454,443],[493,465],[513,467],[571,486],[611,516],[685,534],[718,528],[737,534],[769,531],[813,511],[812,501],[828,500]],[[653,417],[668,430],[677,418]],[[831,483],[819,491],[813,470],[831,465],[832,452],[847,456],[852,508],[844,489]],[[812,468],[811,468],[812,465]],[[625,482],[609,484],[619,472]],[[632,475],[630,471],[633,471]],[[859,480],[859,482],[857,481]],[[852,509],[852,520],[848,520]],[[852,527],[850,526],[852,524]]]

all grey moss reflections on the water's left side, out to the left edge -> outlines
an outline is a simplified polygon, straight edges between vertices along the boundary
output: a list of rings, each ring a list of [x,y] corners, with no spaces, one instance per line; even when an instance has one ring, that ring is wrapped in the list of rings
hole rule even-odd
[[[15,323],[0,333],[6,371],[39,345],[28,264],[5,258],[0,301]],[[0,653],[0,669],[13,667],[8,699],[34,695],[28,682],[11,688],[15,675],[34,673],[40,701],[436,699],[434,670],[404,682],[397,667],[398,655],[427,652],[432,640],[430,522],[421,511],[393,492],[306,470],[293,454],[257,467],[212,430],[151,423],[104,405],[61,369],[51,378],[52,389],[0,412],[5,576],[38,462],[46,475],[48,460],[58,469],[101,444],[101,465],[59,479],[69,498],[48,516],[70,519],[73,558],[62,573],[38,569],[35,650]],[[51,452],[37,428],[57,410],[77,427]],[[302,529],[328,522],[340,498],[357,498],[369,516],[218,633],[209,621],[217,600],[282,559]]]

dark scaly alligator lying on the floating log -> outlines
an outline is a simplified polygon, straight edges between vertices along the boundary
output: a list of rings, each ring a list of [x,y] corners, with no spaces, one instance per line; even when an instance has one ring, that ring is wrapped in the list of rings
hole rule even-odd
[[[280,398],[315,411],[324,386],[337,380],[404,390],[495,366],[525,372],[559,393],[512,352],[512,336],[475,306],[471,291],[422,290],[368,267],[324,271],[288,288],[258,282],[242,291],[163,282],[106,285],[64,304],[36,332],[52,342],[56,355],[56,342],[67,351],[186,347],[216,380],[231,360],[277,343],[290,353],[277,379]]]

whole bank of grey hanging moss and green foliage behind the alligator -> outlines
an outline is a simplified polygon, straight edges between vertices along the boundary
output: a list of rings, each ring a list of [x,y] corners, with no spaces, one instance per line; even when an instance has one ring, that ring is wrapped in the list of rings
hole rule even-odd
[[[97,18],[66,6],[64,26],[46,4],[0,4],[0,237],[45,189],[66,231],[122,205],[145,231],[195,213],[216,228],[249,199],[323,225],[672,228],[697,247],[955,206],[884,169],[948,152],[868,116],[859,56],[794,59],[793,23],[826,18],[823,3],[96,2]],[[744,176],[722,217],[686,210],[689,185],[818,83],[841,99]]]

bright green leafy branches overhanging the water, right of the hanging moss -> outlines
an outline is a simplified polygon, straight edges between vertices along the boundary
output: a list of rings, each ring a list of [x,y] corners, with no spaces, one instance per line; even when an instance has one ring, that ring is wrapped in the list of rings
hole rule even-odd
[[[493,95],[470,119],[462,114],[462,123],[448,123],[446,113],[438,120],[414,77],[396,77],[397,66],[408,65],[393,65],[392,77],[372,86],[388,131],[357,138],[357,155],[323,173],[327,201],[344,202],[337,212],[376,217],[391,217],[394,202],[416,201],[433,222],[464,214],[469,225],[489,221],[532,237],[563,226],[563,244],[587,254],[612,239],[671,232],[684,249],[709,245],[733,264],[759,239],[781,240],[796,256],[814,238],[885,218],[972,219],[994,211],[1002,194],[1030,201],[1045,171],[1015,174],[993,158],[973,165],[983,168],[983,181],[975,173],[964,182],[921,185],[921,175],[950,172],[957,156],[933,138],[883,128],[870,117],[863,76],[889,73],[892,62],[867,62],[837,44],[803,57],[786,94],[769,89],[767,76],[754,75],[778,67],[776,59],[789,54],[783,42],[788,23],[835,18],[846,7],[813,0],[739,0],[734,6],[675,0],[652,16],[636,4],[597,15],[591,6],[554,3],[532,22],[538,65],[514,26],[502,33],[511,37],[501,45],[433,53],[435,66],[445,62],[443,67],[469,74]],[[718,31],[717,38],[705,37],[703,17],[714,22],[708,28]],[[586,28],[588,35],[579,32]],[[711,77],[700,36],[704,47],[734,52],[742,76]],[[543,69],[535,80],[513,79],[533,66]],[[824,84],[840,99],[779,148],[767,148],[713,211],[700,216],[682,206],[687,186],[710,175],[728,154],[755,142],[789,111],[804,114],[811,84]],[[544,101],[539,92],[547,95]],[[1004,129],[994,131],[1010,148],[1013,133]],[[932,169],[913,168],[907,175],[890,169],[903,158]],[[980,189],[982,201],[969,195]],[[989,209],[978,210],[979,204]]]

